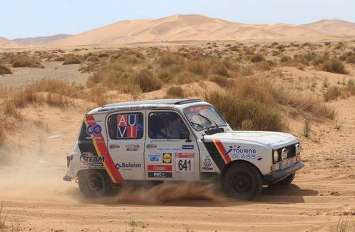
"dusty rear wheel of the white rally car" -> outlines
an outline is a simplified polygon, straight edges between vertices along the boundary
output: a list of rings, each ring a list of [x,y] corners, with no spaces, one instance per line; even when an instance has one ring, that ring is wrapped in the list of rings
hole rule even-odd
[[[88,169],[78,175],[80,191],[90,198],[108,196],[113,185],[103,170]]]

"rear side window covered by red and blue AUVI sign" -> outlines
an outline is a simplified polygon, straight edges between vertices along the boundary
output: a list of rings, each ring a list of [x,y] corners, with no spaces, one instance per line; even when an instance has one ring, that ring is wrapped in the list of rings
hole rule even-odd
[[[113,114],[108,117],[111,139],[139,139],[143,137],[143,114]]]

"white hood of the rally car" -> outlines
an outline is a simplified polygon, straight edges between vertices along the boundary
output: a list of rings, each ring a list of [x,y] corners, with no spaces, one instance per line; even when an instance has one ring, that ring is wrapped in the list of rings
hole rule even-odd
[[[271,131],[227,131],[225,133],[205,135],[204,138],[207,140],[219,139],[222,142],[258,143],[270,147],[298,142],[297,138],[292,134]]]

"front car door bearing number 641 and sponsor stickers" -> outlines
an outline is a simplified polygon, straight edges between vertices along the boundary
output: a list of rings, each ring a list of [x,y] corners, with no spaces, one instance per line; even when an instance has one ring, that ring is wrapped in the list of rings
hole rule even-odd
[[[145,141],[145,176],[148,180],[198,181],[200,156],[195,136],[178,111],[149,110]],[[180,133],[190,139],[180,139]]]

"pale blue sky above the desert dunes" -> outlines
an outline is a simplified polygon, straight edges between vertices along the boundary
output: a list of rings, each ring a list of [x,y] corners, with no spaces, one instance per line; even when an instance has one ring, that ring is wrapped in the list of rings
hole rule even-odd
[[[354,0],[0,0],[0,36],[78,34],[125,19],[204,14],[246,24],[355,22]]]

